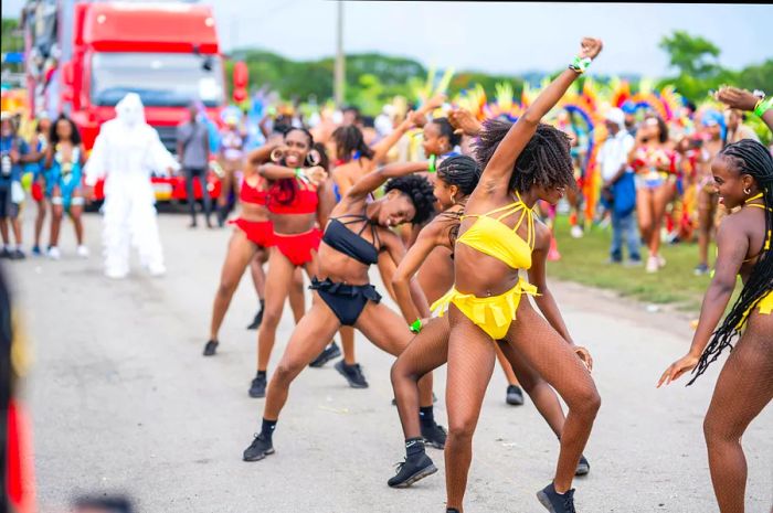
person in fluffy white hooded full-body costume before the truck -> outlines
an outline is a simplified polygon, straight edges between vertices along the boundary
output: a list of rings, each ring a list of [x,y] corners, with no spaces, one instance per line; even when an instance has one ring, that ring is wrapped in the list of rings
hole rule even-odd
[[[116,118],[99,129],[85,167],[89,188],[105,177],[103,245],[108,278],[128,275],[130,245],[151,275],[166,272],[150,173],[179,168],[158,132],[145,122],[139,95],[127,94],[116,105]]]

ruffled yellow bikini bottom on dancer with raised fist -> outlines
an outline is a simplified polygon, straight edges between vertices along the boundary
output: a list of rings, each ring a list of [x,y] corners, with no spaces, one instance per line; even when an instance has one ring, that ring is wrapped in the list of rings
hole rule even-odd
[[[510,323],[516,319],[516,310],[520,303],[521,295],[537,296],[537,287],[519,278],[515,287],[499,296],[478,298],[472,293],[462,293],[452,288],[448,293],[432,303],[432,311],[440,309],[437,314],[443,317],[448,304],[454,303],[462,313],[475,322],[483,331],[494,340],[501,340],[510,329]]]

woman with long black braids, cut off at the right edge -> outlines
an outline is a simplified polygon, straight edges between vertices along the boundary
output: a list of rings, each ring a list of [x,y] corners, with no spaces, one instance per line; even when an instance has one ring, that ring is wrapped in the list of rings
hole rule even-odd
[[[735,88],[720,90],[718,99],[753,110],[773,130],[770,99],[765,103]],[[692,384],[726,348],[731,348],[703,420],[703,434],[720,512],[743,513],[746,460],[741,437],[773,398],[773,157],[760,142],[744,139],[722,149],[711,170],[720,203],[730,210],[741,209],[726,216],[719,227],[714,277],[690,351],[663,373],[658,386],[688,371],[695,373],[688,385]],[[717,328],[738,275],[743,289]],[[740,338],[733,346],[737,335]]]

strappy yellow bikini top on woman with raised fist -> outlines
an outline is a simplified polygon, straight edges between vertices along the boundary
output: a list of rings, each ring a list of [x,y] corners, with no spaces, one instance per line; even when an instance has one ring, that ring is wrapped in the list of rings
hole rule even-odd
[[[532,210],[521,201],[520,194],[516,192],[516,195],[518,201],[485,214],[463,215],[462,221],[467,217],[476,217],[476,220],[456,242],[493,256],[513,269],[529,269],[531,252],[534,249],[534,215]],[[501,220],[518,212],[521,214],[513,228],[502,223]],[[494,217],[493,214],[497,213],[499,215]],[[527,222],[526,241],[516,233],[523,220]]]

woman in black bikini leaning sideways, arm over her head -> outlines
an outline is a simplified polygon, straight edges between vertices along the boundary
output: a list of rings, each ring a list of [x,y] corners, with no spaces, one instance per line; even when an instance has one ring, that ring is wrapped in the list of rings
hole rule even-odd
[[[263,425],[244,450],[245,461],[274,453],[273,432],[290,384],[340,327],[354,327],[390,354],[398,355],[407,345],[412,336],[409,327],[380,302],[381,296],[369,282],[368,269],[377,264],[381,252],[395,263],[402,259],[405,248],[391,227],[422,223],[432,214],[434,196],[430,183],[422,177],[406,177],[426,169],[426,163],[404,163],[373,171],[332,210],[319,249],[319,274],[311,279],[311,308],[290,335],[272,377]],[[384,182],[385,194],[369,201]],[[422,406],[431,406],[431,380],[424,380],[420,386]]]

